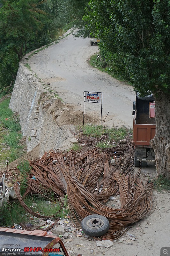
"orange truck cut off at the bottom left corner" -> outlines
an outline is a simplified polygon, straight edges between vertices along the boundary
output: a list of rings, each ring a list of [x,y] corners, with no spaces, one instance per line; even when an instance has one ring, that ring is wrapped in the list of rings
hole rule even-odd
[[[62,240],[43,230],[0,228],[0,243],[0,255],[69,256]]]

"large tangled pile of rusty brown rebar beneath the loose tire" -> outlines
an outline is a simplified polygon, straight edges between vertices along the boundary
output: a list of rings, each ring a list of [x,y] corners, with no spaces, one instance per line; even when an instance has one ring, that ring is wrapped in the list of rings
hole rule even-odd
[[[24,196],[32,192],[49,197],[53,191],[60,200],[61,196],[67,195],[69,214],[75,225],[80,226],[81,220],[87,215],[103,215],[109,220],[109,230],[100,238],[113,240],[120,237],[129,224],[150,212],[153,184],[143,185],[138,175],[131,174],[133,147],[130,140],[126,144],[117,143],[116,147],[103,150],[93,144],[86,141],[85,147],[77,152],[51,150],[41,159],[30,162],[32,170]],[[115,159],[115,165],[110,164],[112,158]],[[17,186],[18,199],[26,208]],[[107,207],[105,204],[109,197],[118,191],[121,208]]]

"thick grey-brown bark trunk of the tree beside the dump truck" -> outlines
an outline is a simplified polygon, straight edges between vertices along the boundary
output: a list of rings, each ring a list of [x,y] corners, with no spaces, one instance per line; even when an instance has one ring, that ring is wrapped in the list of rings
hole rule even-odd
[[[155,95],[154,95],[155,96]],[[156,134],[151,145],[155,151],[157,177],[170,179],[170,95],[155,96]]]

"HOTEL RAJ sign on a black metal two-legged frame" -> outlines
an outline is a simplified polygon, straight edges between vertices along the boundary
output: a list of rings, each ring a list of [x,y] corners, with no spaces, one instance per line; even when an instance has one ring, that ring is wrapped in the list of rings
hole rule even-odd
[[[102,92],[83,92],[84,94],[84,106],[83,106],[83,125],[85,119],[85,102],[100,103],[101,104],[101,116],[102,116]],[[101,119],[100,119],[101,125]]]

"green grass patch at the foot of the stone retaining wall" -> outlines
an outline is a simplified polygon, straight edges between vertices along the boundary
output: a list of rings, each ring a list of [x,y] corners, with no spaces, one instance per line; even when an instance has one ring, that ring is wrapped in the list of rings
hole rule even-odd
[[[0,103],[0,162],[3,164],[7,157],[10,162],[20,157],[24,148],[20,145],[22,134],[19,118],[8,108],[9,102],[10,97]]]

